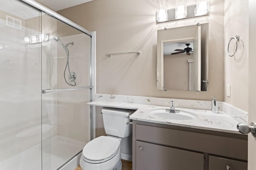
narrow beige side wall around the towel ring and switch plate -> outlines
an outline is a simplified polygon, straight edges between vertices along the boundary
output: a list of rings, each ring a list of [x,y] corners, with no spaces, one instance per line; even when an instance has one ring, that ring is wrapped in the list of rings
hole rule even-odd
[[[225,0],[225,87],[231,86],[231,96],[225,102],[248,111],[248,0]],[[229,57],[227,53],[230,37],[240,35],[237,53]],[[230,44],[230,53],[234,48]]]

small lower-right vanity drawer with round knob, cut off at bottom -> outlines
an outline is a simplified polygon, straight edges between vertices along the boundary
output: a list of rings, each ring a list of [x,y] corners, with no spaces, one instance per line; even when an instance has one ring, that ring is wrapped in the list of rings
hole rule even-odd
[[[237,160],[209,156],[209,170],[247,170],[247,163]]]

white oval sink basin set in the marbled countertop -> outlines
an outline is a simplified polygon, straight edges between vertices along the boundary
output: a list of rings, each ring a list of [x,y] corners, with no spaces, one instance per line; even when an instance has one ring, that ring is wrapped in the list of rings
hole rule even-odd
[[[180,110],[179,113],[170,113],[167,112],[166,109],[155,109],[150,111],[152,115],[167,118],[167,119],[175,119],[175,120],[190,120],[196,119],[197,115],[191,113],[189,111]]]

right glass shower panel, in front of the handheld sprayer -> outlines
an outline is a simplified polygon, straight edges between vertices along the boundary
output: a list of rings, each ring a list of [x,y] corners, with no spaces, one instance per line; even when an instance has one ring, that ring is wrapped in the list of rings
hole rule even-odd
[[[42,45],[42,90],[90,86],[91,38],[46,14],[42,33],[49,35]],[[56,170],[90,141],[88,102],[90,89],[42,94],[43,170]]]

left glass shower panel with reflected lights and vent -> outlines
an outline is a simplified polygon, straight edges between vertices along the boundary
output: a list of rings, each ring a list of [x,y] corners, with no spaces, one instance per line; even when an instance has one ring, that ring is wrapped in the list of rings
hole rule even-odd
[[[41,169],[41,12],[0,6],[0,170]]]

